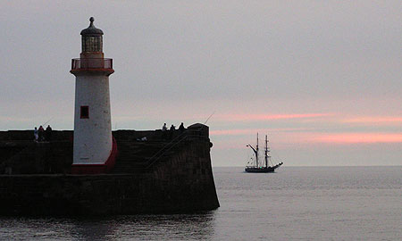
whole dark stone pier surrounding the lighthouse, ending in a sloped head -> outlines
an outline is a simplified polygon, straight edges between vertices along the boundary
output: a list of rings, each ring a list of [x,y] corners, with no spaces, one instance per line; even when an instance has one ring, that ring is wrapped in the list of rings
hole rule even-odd
[[[61,143],[56,146],[29,142],[30,136],[13,140],[24,136],[22,132],[0,133],[2,215],[172,213],[219,207],[205,125],[181,132],[113,131],[119,156],[111,173],[98,175],[69,174],[71,131],[55,132],[54,143]]]

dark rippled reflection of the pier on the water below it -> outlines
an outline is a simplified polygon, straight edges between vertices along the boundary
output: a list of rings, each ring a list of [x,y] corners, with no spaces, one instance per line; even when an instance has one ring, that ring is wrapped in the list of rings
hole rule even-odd
[[[214,212],[57,219],[0,217],[0,240],[211,240]]]

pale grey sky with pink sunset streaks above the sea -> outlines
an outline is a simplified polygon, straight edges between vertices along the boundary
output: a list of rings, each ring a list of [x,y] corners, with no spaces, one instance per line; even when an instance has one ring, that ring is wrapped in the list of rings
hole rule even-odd
[[[402,165],[401,1],[0,0],[0,130],[73,129],[80,30],[103,29],[113,129],[205,123],[214,166]],[[209,118],[209,119],[208,119]]]

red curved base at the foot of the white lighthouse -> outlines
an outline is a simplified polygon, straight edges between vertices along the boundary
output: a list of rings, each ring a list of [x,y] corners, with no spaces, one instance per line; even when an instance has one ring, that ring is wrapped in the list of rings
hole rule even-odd
[[[71,174],[103,174],[108,173],[113,169],[114,163],[116,162],[117,154],[117,143],[113,137],[112,151],[110,152],[109,158],[104,164],[72,164]]]

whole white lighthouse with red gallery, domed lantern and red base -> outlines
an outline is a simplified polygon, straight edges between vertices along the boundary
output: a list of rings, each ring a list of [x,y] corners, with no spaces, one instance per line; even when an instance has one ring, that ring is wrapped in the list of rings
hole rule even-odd
[[[112,137],[109,75],[113,60],[102,50],[104,32],[96,29],[94,18],[81,31],[80,59],[72,59],[75,75],[74,144],[71,172],[103,173],[113,168],[117,147]]]

